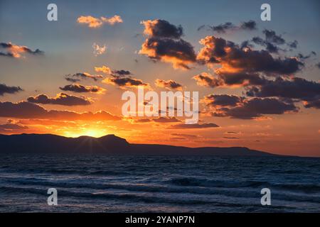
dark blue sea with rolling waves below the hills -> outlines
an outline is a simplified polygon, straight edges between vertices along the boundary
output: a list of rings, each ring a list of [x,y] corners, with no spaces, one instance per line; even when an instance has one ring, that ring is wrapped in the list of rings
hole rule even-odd
[[[0,155],[0,211],[320,212],[320,159]]]

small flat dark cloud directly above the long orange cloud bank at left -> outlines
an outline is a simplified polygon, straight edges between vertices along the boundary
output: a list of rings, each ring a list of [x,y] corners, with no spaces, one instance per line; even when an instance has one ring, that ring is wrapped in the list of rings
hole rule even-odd
[[[49,98],[46,94],[28,97],[28,102],[35,104],[54,104],[63,106],[83,106],[91,104],[91,101],[85,97],[73,96],[70,94],[60,93],[54,98]]]

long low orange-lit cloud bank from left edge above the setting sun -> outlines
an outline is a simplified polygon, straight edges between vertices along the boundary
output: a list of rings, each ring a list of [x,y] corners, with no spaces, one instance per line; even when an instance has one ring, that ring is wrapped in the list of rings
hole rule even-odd
[[[22,101],[12,103],[9,101],[0,102],[0,117],[10,118],[31,118],[50,120],[84,120],[84,121],[117,121],[118,116],[114,116],[107,111],[97,111],[95,113],[77,113],[75,111],[46,110],[37,104]]]

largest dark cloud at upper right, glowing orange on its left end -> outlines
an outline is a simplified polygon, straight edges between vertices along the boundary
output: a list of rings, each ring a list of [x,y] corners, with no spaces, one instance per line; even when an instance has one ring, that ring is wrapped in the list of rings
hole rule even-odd
[[[215,36],[207,36],[200,43],[204,47],[198,53],[198,61],[209,66],[222,65],[223,67],[216,71],[220,74],[228,71],[293,74],[304,66],[304,63],[296,58],[274,58],[267,50],[242,50],[235,43]]]

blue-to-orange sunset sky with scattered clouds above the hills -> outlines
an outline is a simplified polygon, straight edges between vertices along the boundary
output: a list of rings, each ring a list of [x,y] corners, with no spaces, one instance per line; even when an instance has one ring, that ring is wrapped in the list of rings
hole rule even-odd
[[[0,0],[0,133],[320,156],[319,23],[319,1]],[[123,116],[138,85],[198,92],[199,122]]]

